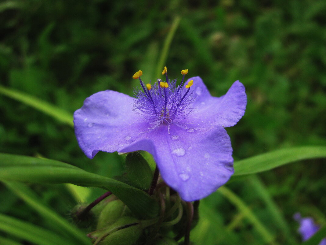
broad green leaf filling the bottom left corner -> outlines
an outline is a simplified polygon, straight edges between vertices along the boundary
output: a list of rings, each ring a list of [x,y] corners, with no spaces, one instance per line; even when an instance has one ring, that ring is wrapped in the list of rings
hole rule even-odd
[[[0,230],[38,245],[71,245],[58,234],[4,214],[0,214]]]

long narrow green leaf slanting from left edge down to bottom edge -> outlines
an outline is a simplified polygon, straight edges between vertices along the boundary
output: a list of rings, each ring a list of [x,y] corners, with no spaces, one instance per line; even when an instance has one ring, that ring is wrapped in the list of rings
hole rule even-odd
[[[75,238],[79,243],[91,243],[90,239],[87,238],[79,229],[45,206],[37,195],[26,185],[7,181],[4,183],[17,196],[22,198],[24,202],[34,208],[52,227],[60,230],[64,235],[68,235],[69,238]]]

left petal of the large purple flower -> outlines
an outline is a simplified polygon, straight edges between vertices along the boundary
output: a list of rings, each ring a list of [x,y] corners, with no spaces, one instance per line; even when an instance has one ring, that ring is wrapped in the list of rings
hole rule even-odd
[[[93,158],[98,151],[115,152],[148,130],[148,123],[133,111],[133,103],[130,96],[111,90],[85,99],[74,113],[74,125],[79,146],[87,157]]]

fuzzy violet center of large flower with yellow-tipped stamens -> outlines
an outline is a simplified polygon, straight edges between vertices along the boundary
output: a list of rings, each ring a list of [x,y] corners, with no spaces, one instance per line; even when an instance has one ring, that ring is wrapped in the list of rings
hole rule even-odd
[[[158,124],[178,123],[185,119],[192,112],[190,105],[195,98],[190,91],[193,80],[187,85],[184,84],[185,75],[188,70],[182,70],[183,74],[180,85],[176,85],[177,79],[169,80],[167,68],[164,67],[162,72],[166,74],[166,80],[163,82],[157,79],[154,84],[146,84],[141,81],[142,71],[138,71],[133,75],[134,79],[139,79],[142,89],[135,89],[136,100],[134,104],[135,112],[139,113],[143,119]],[[145,88],[146,87],[146,88]]]

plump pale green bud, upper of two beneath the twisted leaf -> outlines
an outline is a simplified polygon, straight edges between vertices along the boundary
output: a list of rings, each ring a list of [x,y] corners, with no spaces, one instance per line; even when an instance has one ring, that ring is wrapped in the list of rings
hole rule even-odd
[[[98,217],[97,229],[108,227],[121,216],[130,214],[129,208],[121,200],[113,200],[105,205]]]

